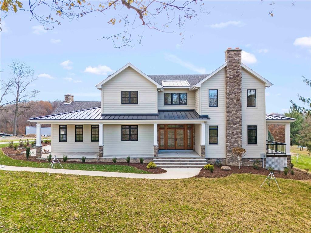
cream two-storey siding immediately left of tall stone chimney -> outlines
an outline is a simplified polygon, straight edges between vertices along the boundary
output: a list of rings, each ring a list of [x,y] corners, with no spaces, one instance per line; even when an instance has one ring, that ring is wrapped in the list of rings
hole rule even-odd
[[[208,107],[208,90],[218,90],[218,107]],[[225,68],[202,83],[200,87],[201,115],[211,121],[205,124],[205,153],[207,158],[225,158]],[[208,126],[218,126],[218,145],[208,144]]]

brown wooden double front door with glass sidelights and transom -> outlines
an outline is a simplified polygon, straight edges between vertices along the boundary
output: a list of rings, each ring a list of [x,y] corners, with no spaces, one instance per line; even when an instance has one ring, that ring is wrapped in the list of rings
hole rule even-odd
[[[159,149],[192,149],[192,124],[160,125]]]

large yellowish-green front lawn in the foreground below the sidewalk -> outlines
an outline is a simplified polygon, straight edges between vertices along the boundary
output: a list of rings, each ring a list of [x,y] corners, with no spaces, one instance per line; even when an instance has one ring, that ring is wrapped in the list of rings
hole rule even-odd
[[[311,181],[0,175],[1,232],[311,232]]]

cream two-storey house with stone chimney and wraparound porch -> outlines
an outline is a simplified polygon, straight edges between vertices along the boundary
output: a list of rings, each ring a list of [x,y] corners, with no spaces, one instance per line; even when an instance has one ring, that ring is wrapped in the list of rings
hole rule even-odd
[[[101,102],[65,95],[52,115],[29,120],[37,123],[37,157],[40,125],[51,124],[51,152],[68,158],[130,156],[170,166],[160,159],[176,153],[193,166],[198,158],[227,165],[264,158],[269,166],[289,166],[295,119],[265,113],[265,90],[272,83],[244,65],[241,53],[228,48],[225,63],[209,75],[146,75],[128,63],[96,85]],[[267,124],[274,123],[285,124],[285,143],[267,140]],[[234,147],[245,148],[246,155],[237,158]]]

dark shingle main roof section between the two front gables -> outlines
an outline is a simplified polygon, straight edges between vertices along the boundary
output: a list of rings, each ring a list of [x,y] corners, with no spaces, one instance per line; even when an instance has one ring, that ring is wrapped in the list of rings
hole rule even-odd
[[[155,80],[158,84],[162,85],[162,81],[183,81],[187,80],[193,86],[200,82],[208,75],[148,75],[151,79]]]

